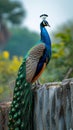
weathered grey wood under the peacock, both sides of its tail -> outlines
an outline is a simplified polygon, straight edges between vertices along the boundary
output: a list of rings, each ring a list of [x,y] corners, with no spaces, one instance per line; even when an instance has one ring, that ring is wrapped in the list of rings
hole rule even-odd
[[[10,103],[0,104],[0,130],[8,130]],[[34,90],[34,130],[73,130],[73,78]]]

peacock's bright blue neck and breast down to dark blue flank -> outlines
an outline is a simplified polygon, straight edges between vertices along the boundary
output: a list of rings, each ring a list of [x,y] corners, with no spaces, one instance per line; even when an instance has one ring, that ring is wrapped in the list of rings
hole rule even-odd
[[[51,58],[51,40],[47,30],[44,27],[41,27],[41,41],[45,44],[45,50],[42,57],[39,59],[37,70],[35,76],[38,75],[43,67],[44,63],[48,63]],[[47,59],[47,62],[46,62]],[[34,76],[34,77],[35,77]]]

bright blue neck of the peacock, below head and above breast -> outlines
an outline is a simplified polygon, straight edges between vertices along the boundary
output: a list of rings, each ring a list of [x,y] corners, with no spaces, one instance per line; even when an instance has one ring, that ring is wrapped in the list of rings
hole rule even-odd
[[[40,29],[41,29],[41,41],[44,42],[48,48],[51,49],[51,40],[46,28],[40,25]]]

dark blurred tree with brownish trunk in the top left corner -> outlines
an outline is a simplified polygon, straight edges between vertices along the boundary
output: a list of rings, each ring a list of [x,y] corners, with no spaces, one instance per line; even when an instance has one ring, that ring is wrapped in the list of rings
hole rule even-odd
[[[25,14],[19,1],[0,0],[0,49],[3,48],[10,35],[6,24],[20,24]]]

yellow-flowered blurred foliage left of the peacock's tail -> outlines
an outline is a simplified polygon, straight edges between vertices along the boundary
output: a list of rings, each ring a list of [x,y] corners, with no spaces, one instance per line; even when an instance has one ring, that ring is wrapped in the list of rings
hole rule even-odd
[[[0,53],[0,101],[9,100],[13,80],[16,79],[17,71],[22,62],[22,57],[9,58],[9,52]]]

